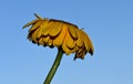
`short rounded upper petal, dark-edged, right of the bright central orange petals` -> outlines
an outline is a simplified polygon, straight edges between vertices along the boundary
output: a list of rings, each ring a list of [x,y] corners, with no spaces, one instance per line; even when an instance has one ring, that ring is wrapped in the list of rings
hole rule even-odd
[[[69,25],[69,32],[71,34],[71,36],[73,39],[78,39],[78,28],[75,25],[72,25],[72,24],[68,24]]]

